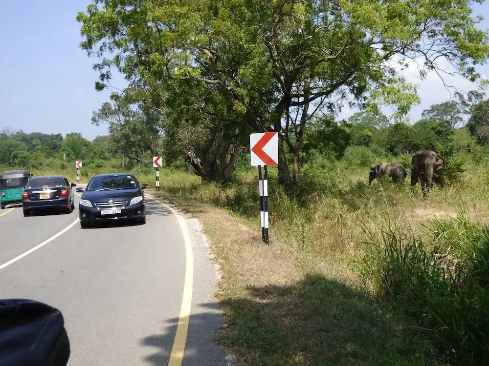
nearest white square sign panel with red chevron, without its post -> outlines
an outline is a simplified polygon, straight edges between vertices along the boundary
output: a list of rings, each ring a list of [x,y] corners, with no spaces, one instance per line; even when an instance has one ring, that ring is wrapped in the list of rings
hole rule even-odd
[[[278,164],[277,132],[260,132],[249,135],[251,166]]]

